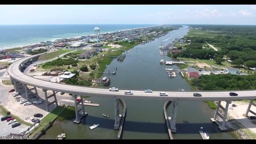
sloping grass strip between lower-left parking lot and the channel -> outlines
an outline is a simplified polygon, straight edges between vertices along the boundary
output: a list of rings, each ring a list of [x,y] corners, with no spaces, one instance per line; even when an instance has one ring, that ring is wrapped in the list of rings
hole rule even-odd
[[[30,137],[34,138],[35,135],[39,132],[46,131],[46,127],[51,125],[54,119],[62,113],[62,111],[65,109],[65,107],[56,107],[53,109],[48,115],[46,115],[40,122],[40,126],[37,129],[34,129],[30,132]]]

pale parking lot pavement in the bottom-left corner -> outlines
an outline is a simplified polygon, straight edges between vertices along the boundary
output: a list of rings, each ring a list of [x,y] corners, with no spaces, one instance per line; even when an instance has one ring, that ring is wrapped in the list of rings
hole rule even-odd
[[[0,115],[0,117],[3,117]],[[17,123],[17,122],[15,122]],[[14,124],[14,123],[12,123]],[[0,121],[0,139],[4,139],[4,136],[10,133],[19,133],[20,131],[27,130],[29,126],[21,124],[20,126],[12,128],[12,124],[7,124],[6,121]]]

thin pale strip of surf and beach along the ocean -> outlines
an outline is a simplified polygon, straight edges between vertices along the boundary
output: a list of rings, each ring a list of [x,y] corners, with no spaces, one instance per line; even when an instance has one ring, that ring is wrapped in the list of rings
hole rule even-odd
[[[133,30],[133,29],[139,29],[139,28],[148,28],[148,27],[156,27],[156,26],[161,26],[161,25],[153,25],[153,26],[147,26],[147,27],[137,27],[137,28],[131,28],[131,29],[121,29],[121,30],[115,30],[115,31],[107,31],[107,32],[104,32],[104,33],[100,33],[100,34],[107,34],[107,33],[115,33],[117,31],[125,31],[125,30]],[[93,32],[87,32],[87,33],[93,33]],[[71,34],[71,33],[67,33],[67,34]],[[66,35],[66,34],[62,34],[62,35]],[[49,38],[49,39],[46,39],[46,40],[42,40],[40,42],[46,42],[46,41],[51,41],[51,42],[54,42],[56,39],[62,39],[62,38],[79,38],[81,36],[93,36],[94,34],[87,34],[87,35],[79,35],[79,36],[74,36],[74,37],[58,37],[58,38]],[[17,44],[15,46],[4,46],[4,47],[0,47],[0,51],[2,50],[9,50],[9,49],[16,49],[16,48],[22,48],[22,47],[25,47],[25,46],[29,46],[29,45],[34,45],[34,44],[37,44],[37,43],[40,43],[40,42],[35,42],[35,43],[26,43],[26,44]]]

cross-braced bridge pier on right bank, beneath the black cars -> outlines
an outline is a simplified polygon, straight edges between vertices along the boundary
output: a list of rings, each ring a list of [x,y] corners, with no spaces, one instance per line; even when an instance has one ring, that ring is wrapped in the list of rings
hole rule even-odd
[[[218,102],[217,109],[216,109],[215,114],[214,114],[214,117],[211,118],[211,121],[212,121],[212,122],[215,122],[215,123],[217,123],[217,124],[219,125],[219,129],[220,129],[221,131],[226,131],[226,130],[227,130],[227,127],[226,127],[226,119],[227,119],[228,107],[229,107],[229,104],[230,104],[230,103],[231,103],[231,101],[226,101],[226,107],[223,108],[223,107],[220,105],[220,104],[221,104],[221,101],[219,101],[219,102]],[[222,114],[220,113],[220,111],[219,111],[220,109],[223,110],[224,115],[222,115]],[[221,122],[221,123],[218,121],[217,116],[219,116],[220,119],[222,119],[222,122]]]

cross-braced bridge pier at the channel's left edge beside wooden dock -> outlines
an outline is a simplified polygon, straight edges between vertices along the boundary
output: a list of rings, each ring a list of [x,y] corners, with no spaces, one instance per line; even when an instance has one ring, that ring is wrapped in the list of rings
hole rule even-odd
[[[76,119],[73,121],[74,123],[77,123],[79,124],[81,122],[81,119],[87,115],[87,113],[85,113],[84,111],[84,102],[83,102],[83,98],[81,98],[81,101],[77,101],[76,98],[77,98],[77,95],[75,94],[72,94],[73,95],[73,98],[74,98],[74,101],[75,101],[75,113],[76,113]],[[81,103],[82,105],[82,108],[81,109],[78,109],[78,105],[79,103]],[[82,115],[79,114],[79,112],[82,110]]]

